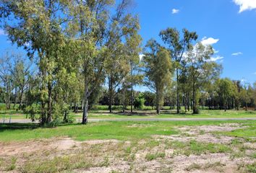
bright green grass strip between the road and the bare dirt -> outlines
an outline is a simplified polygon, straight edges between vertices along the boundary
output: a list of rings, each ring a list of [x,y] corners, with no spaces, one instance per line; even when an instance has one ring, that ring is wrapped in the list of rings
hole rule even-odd
[[[90,139],[132,140],[150,138],[153,135],[174,135],[177,125],[219,125],[221,123],[245,123],[254,121],[176,121],[176,122],[101,122],[88,125],[60,125],[56,128],[40,128],[36,124],[0,124],[0,141],[27,141],[39,138],[70,137],[78,141]],[[245,133],[251,133],[245,131]],[[249,134],[247,134],[249,136]],[[154,143],[153,143],[154,145]]]

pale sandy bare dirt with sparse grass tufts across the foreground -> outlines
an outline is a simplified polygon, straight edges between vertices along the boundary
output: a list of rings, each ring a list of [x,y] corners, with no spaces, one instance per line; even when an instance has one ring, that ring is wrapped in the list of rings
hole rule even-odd
[[[0,143],[0,172],[241,172],[240,167],[256,161],[252,157],[256,151],[255,143],[212,134],[216,130],[237,128],[242,127],[239,124],[184,126],[176,128],[181,131],[179,135],[153,136],[138,141],[81,142],[72,138],[51,138]],[[239,146],[229,145],[234,139],[241,141]],[[229,146],[232,151],[210,152],[202,147],[200,149],[205,151],[186,154],[180,150],[187,148],[170,145],[175,141],[185,145],[189,145],[189,141],[214,143],[213,146]],[[241,146],[244,147],[239,148]],[[12,164],[9,163],[12,162],[15,167],[10,170]]]

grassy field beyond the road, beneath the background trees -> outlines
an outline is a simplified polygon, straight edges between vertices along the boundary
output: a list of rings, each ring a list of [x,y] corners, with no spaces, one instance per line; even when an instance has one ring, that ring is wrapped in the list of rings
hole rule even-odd
[[[69,116],[76,119],[82,118],[82,112],[74,113],[70,112]],[[29,118],[29,115],[25,115],[22,111],[16,110],[1,110],[0,119],[9,118],[17,120],[25,120]],[[182,112],[176,114],[176,110],[163,110],[161,115],[157,115],[155,110],[135,110],[133,114],[130,112],[122,113],[120,110],[114,110],[113,113],[109,113],[108,110],[91,110],[88,117],[90,119],[98,118],[221,118],[221,117],[256,117],[256,111],[244,111],[244,110],[200,110],[200,114],[193,115],[192,112]]]

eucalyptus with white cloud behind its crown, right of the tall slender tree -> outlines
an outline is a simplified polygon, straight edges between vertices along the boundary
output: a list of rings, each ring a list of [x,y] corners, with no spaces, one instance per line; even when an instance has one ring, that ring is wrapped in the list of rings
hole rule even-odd
[[[187,71],[189,75],[189,83],[192,86],[192,102],[193,113],[198,113],[197,92],[206,83],[218,79],[221,66],[218,63],[210,61],[210,57],[214,51],[211,46],[204,46],[202,43],[197,43],[194,47],[189,48],[186,53],[185,61],[187,63]]]

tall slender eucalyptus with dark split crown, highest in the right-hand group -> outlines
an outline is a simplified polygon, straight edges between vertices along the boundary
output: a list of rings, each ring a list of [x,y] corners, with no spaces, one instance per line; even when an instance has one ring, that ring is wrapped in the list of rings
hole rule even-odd
[[[197,40],[196,32],[189,32],[184,29],[183,36],[180,35],[179,31],[175,28],[167,28],[160,32],[160,37],[163,42],[168,46],[168,50],[171,54],[171,58],[174,62],[174,68],[176,68],[176,105],[177,113],[179,113],[179,97],[180,97],[180,77],[186,66],[184,61],[184,53],[192,47],[192,42]]]

